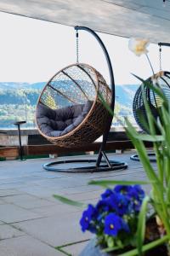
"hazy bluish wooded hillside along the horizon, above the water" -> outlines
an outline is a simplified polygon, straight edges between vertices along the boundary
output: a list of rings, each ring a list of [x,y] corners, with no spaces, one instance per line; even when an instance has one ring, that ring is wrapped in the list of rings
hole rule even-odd
[[[27,100],[31,105],[37,103],[37,98],[45,82],[39,83],[14,83],[0,82],[0,104],[24,104],[26,96],[23,92],[26,90]],[[57,86],[68,86],[65,81],[59,81]],[[83,84],[84,90],[87,90],[87,84]],[[138,89],[138,84],[118,84],[116,85],[116,102],[127,108],[132,108],[133,97]],[[21,93],[20,90],[23,92]],[[61,101],[62,99],[60,99]]]

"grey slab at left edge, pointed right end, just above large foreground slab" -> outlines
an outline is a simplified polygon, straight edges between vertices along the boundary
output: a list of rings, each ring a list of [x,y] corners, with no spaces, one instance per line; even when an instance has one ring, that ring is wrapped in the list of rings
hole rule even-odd
[[[40,214],[14,206],[12,204],[0,205],[0,220],[5,223],[14,223],[41,217],[42,216]]]

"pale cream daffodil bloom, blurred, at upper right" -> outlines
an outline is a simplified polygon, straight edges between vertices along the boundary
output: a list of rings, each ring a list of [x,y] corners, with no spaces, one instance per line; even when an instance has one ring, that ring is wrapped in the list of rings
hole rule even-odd
[[[148,50],[146,49],[149,45],[149,40],[142,38],[130,38],[128,42],[128,48],[133,51],[137,56],[142,54],[147,54]]]

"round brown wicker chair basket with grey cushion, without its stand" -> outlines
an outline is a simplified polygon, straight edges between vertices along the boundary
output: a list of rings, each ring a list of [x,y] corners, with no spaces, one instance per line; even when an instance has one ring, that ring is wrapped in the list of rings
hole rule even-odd
[[[65,67],[48,81],[37,103],[37,127],[59,147],[93,143],[105,131],[111,106],[111,89],[102,75],[87,64]]]

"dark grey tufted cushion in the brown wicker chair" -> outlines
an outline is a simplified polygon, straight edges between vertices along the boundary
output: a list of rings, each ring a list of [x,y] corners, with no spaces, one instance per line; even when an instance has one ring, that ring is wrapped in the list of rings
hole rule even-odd
[[[93,102],[77,104],[65,108],[52,109],[39,103],[37,105],[37,125],[49,137],[60,137],[73,131],[82,123]]]

